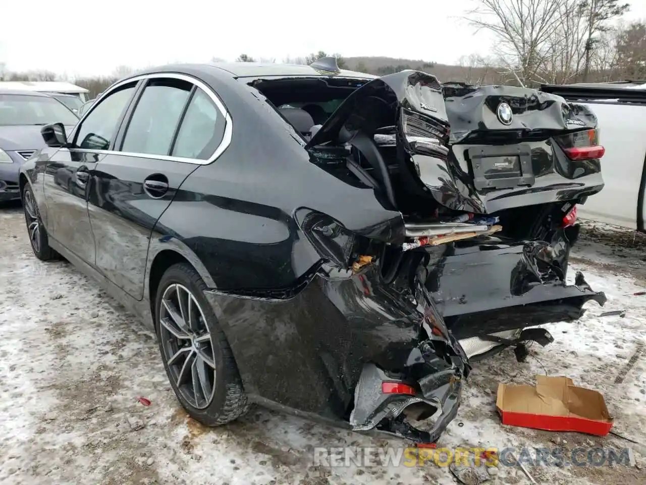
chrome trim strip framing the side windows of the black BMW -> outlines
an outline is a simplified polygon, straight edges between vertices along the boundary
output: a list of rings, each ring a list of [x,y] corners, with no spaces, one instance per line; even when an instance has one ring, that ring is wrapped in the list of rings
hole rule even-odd
[[[233,120],[231,120],[231,115],[227,111],[227,109],[224,106],[224,103],[218,98],[218,95],[205,83],[202,81],[198,80],[197,78],[194,78],[193,76],[189,76],[187,74],[179,74],[177,72],[154,72],[151,74],[140,74],[138,76],[132,76],[132,78],[127,78],[121,81],[118,81],[114,83],[112,86],[110,86],[108,89],[103,91],[101,93],[101,96],[96,98],[94,103],[92,103],[92,106],[90,106],[90,109],[87,113],[83,115],[83,118],[81,118],[76,125],[77,127],[82,126],[83,122],[85,122],[85,118],[87,118],[92,111],[96,108],[99,103],[103,101],[104,98],[107,98],[107,96],[110,96],[112,92],[114,92],[116,89],[119,89],[121,86],[129,83],[136,83],[141,80],[149,80],[149,79],[159,79],[159,78],[170,78],[170,79],[176,79],[180,81],[187,81],[191,84],[196,85],[198,88],[202,89],[202,91],[211,98],[211,101],[215,104],[216,108],[218,111],[220,111],[220,114],[224,116],[224,135],[222,136],[222,140],[220,141],[220,144],[215,148],[213,155],[209,156],[206,160],[201,160],[200,158],[185,158],[183,156],[172,156],[172,155],[151,155],[149,153],[134,153],[134,152],[127,152],[127,151],[118,151],[118,150],[90,150],[90,149],[85,149],[85,148],[69,148],[69,151],[74,151],[75,153],[100,153],[101,155],[121,155],[121,156],[136,156],[138,158],[149,158],[151,160],[168,160],[169,162],[182,162],[185,164],[194,164],[194,165],[208,165],[213,163],[215,160],[217,160],[222,153],[229,147],[231,144],[231,138],[233,137]],[[74,136],[76,136],[76,127],[74,129]]]

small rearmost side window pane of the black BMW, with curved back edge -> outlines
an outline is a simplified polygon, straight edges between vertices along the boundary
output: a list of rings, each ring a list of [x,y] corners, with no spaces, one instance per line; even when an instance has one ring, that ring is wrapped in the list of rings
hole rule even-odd
[[[171,155],[208,160],[224,137],[224,116],[202,89],[186,110]]]

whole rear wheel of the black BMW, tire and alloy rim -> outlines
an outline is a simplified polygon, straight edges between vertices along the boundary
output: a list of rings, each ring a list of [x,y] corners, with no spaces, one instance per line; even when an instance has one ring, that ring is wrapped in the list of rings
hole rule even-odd
[[[229,342],[192,266],[174,264],[155,297],[155,330],[172,389],[189,415],[220,426],[244,415],[247,395]]]

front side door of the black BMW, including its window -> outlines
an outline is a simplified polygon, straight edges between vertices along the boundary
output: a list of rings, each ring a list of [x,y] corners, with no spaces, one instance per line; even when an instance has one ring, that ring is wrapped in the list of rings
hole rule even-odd
[[[47,230],[92,265],[96,251],[87,210],[90,172],[114,143],[135,87],[136,82],[130,83],[101,100],[69,134],[72,147],[59,149],[47,162],[43,184]]]

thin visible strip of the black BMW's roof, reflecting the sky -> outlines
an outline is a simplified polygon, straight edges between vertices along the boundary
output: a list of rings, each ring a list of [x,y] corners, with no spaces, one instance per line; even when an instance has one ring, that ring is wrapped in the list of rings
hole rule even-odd
[[[258,78],[265,76],[272,77],[291,77],[291,76],[334,76],[340,78],[357,78],[373,79],[377,78],[373,74],[364,72],[355,72],[352,70],[340,70],[340,72],[328,72],[317,70],[313,67],[300,64],[276,64],[276,63],[259,63],[259,62],[229,62],[229,63],[208,63],[208,64],[171,64],[160,67],[146,69],[141,74],[152,74],[153,72],[183,72],[185,70],[201,70],[209,74],[225,74],[234,78]],[[132,76],[134,77],[134,76]]]

